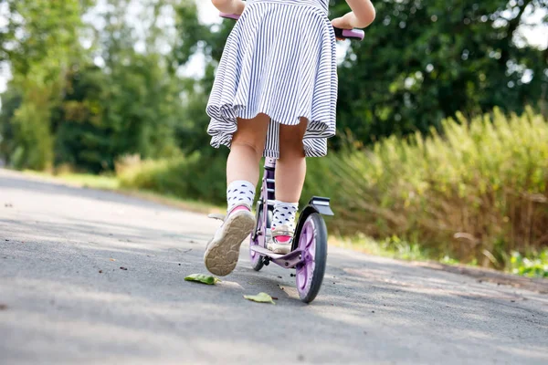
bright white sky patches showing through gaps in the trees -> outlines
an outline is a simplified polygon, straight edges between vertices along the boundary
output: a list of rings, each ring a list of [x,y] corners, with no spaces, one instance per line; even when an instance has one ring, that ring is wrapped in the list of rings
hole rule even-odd
[[[215,24],[221,22],[221,18],[218,16],[218,11],[216,10],[215,6],[211,4],[210,1],[207,0],[195,0],[196,4],[198,5],[199,9],[199,16],[200,20],[203,23],[206,24]],[[510,0],[515,1],[515,0]],[[99,4],[101,1],[98,2]],[[139,1],[135,1],[137,5],[133,7],[133,11],[130,13],[139,12],[138,5]],[[100,5],[99,5],[100,6]],[[1,11],[1,9],[0,9]],[[524,36],[527,39],[527,42],[535,45],[537,47],[546,48],[548,47],[548,26],[541,25],[543,16],[546,15],[548,11],[537,11],[534,14],[529,14],[525,17],[525,23],[532,25],[532,26],[520,26],[519,33]],[[131,16],[132,18],[135,18]],[[5,18],[3,18],[1,12],[0,12],[0,24],[5,22]],[[541,25],[541,26],[540,26]],[[348,47],[347,43],[338,43],[338,57],[339,59],[342,59],[344,56],[345,50]],[[199,78],[203,74],[203,65],[204,65],[204,57],[202,55],[195,55],[195,57],[192,57],[189,63],[186,65],[186,67],[182,70],[182,74],[184,76],[188,77],[195,77]],[[7,80],[11,77],[11,74],[9,72],[9,68],[5,64],[0,64],[0,92],[5,91],[5,85]]]

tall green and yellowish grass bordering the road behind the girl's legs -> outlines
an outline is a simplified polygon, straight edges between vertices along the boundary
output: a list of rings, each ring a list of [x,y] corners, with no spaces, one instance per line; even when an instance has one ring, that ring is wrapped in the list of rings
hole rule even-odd
[[[443,122],[443,135],[391,137],[309,159],[302,202],[332,198],[332,232],[406,242],[440,258],[501,268],[548,246],[548,123],[527,110]],[[225,156],[141,162],[123,187],[225,201]]]

